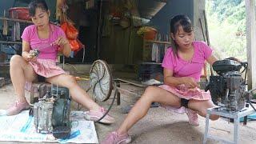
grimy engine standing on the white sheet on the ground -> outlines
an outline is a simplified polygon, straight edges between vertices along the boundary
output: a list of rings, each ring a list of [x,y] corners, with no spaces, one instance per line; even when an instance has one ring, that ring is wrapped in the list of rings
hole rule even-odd
[[[52,86],[50,92],[34,104],[34,126],[38,133],[55,138],[70,135],[70,94],[66,87]]]

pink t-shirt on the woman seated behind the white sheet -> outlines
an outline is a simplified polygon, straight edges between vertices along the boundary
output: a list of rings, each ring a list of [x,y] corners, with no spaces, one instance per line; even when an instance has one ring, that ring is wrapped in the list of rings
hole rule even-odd
[[[37,48],[40,53],[39,59],[53,59],[56,60],[58,54],[58,46],[50,46],[58,37],[66,37],[62,28],[50,24],[50,37],[38,38],[38,30],[35,25],[27,26],[22,34],[22,40],[30,43],[30,49]]]

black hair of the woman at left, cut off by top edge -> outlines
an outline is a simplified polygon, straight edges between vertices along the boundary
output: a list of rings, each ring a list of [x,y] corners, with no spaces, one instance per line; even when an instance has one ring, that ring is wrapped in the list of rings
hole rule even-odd
[[[37,8],[41,8],[42,10],[48,10],[48,6],[46,4],[45,0],[33,0],[32,2],[30,2],[29,4],[29,9],[30,9],[30,16],[34,17],[35,15],[35,10]]]

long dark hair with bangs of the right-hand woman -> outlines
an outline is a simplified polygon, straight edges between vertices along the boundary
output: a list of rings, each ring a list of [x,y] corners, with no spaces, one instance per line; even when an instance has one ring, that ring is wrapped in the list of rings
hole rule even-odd
[[[191,24],[190,18],[188,18],[186,15],[176,15],[170,19],[170,33],[174,35],[177,34],[179,26],[182,26],[183,30],[186,33],[190,33],[193,31],[193,26]],[[173,38],[170,38],[170,41],[174,51],[174,56],[178,57],[178,45]]]

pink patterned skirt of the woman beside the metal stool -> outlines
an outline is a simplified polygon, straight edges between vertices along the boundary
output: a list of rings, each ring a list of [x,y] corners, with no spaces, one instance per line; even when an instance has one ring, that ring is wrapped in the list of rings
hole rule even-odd
[[[169,91],[170,93],[178,96],[178,98],[184,98],[184,99],[194,99],[194,100],[198,100],[198,101],[206,101],[206,100],[210,100],[211,96],[210,96],[210,91],[205,91],[205,90],[200,90],[199,88],[194,88],[194,89],[189,89],[187,88],[185,85],[179,85],[179,86],[167,86],[167,85],[161,85],[158,86],[164,90]],[[186,112],[186,108],[184,106],[180,107],[180,108],[174,108],[172,106],[168,106],[168,105],[161,105],[163,108],[165,108],[166,110],[171,110],[174,112],[178,112],[178,113],[184,113]]]

